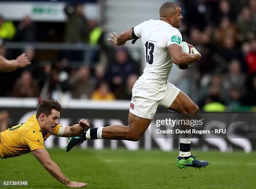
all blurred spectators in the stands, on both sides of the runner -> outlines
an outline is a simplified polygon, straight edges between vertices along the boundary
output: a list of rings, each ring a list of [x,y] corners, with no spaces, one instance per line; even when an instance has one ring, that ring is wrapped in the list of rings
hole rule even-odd
[[[198,105],[205,111],[255,106],[256,0],[178,3],[184,17],[180,28],[183,41],[202,54],[193,66]],[[20,53],[7,49],[4,41],[89,43],[99,46],[99,50],[90,51],[90,64],[71,64],[84,61],[81,51],[59,51],[51,61],[45,61],[49,54],[39,54],[33,46],[26,46],[24,52],[32,64],[1,74],[0,96],[130,100],[133,84],[141,75],[140,62],[125,46],[107,46],[105,28],[95,20],[87,20],[82,4],[67,5],[65,13],[64,30],[54,25],[42,30],[29,15],[18,23],[0,17],[0,55],[11,59]]]

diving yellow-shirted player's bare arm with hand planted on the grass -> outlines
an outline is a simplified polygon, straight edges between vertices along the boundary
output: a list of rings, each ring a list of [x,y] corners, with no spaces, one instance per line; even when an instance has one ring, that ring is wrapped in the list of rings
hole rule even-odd
[[[46,149],[36,149],[32,151],[33,155],[38,159],[38,161],[44,166],[44,168],[58,181],[65,184],[67,187],[84,187],[87,184],[76,181],[69,181],[67,176],[65,176],[59,169],[59,166],[51,160],[49,153]]]

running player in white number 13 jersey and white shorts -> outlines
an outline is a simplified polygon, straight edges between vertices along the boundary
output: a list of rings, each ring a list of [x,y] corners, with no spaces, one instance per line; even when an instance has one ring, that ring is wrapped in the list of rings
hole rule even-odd
[[[138,141],[156,112],[157,107],[165,107],[179,113],[195,114],[199,108],[180,89],[167,82],[173,63],[187,65],[201,58],[201,54],[191,45],[192,54],[182,52],[180,28],[182,15],[179,5],[166,2],[159,10],[159,20],[148,20],[134,28],[110,34],[108,41],[124,45],[126,41],[142,39],[146,67],[133,86],[129,112],[129,125],[111,125],[87,130],[80,137],[69,138],[67,151],[84,140],[115,139]],[[190,154],[191,138],[181,138],[177,166],[201,168],[207,161],[199,161]]]

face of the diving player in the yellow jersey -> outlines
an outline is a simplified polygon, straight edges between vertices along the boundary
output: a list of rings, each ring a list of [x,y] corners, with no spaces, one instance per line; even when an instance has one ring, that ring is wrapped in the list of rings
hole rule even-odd
[[[60,112],[57,110],[51,110],[51,114],[44,118],[44,128],[47,133],[53,133],[56,125],[59,124]]]

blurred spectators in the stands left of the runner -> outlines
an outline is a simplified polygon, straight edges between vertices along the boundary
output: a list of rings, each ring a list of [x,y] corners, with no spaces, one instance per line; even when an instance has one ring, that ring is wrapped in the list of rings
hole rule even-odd
[[[38,23],[26,15],[21,22],[5,20],[0,16],[0,55],[14,59],[20,50],[7,49],[5,41],[65,42],[98,45],[84,60],[81,50],[58,51],[54,58],[33,46],[24,46],[31,65],[10,73],[0,74],[2,97],[62,97],[92,100],[128,100],[131,89],[140,74],[140,64],[122,47],[106,47],[104,27],[84,16],[83,4],[67,5],[64,9],[67,22],[64,32],[51,27],[41,30]],[[72,64],[72,63],[77,64]]]

